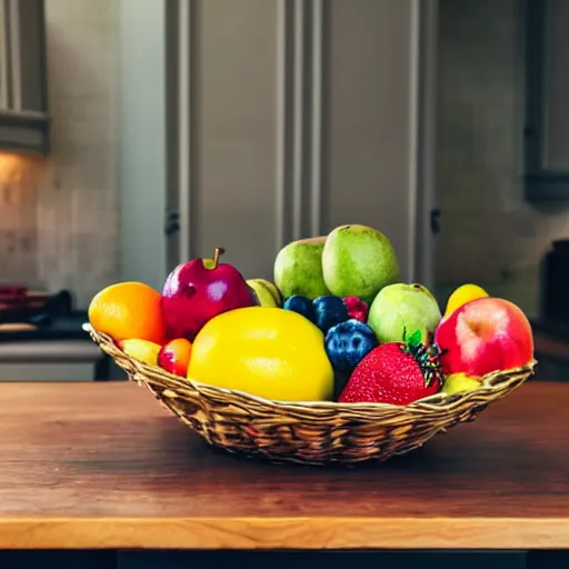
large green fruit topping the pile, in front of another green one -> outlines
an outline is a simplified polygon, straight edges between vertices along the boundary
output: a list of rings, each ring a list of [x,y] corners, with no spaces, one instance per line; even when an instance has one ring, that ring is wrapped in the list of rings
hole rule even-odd
[[[325,283],[337,297],[358,297],[370,303],[399,278],[399,263],[389,239],[371,227],[340,226],[326,239]]]

